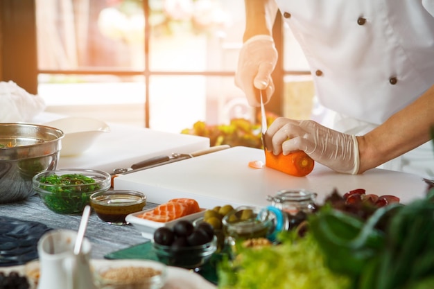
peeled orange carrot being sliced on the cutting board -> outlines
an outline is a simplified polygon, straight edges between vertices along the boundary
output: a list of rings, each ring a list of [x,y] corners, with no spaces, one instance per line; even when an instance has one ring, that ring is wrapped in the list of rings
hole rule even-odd
[[[283,155],[282,153],[273,155],[272,152],[266,150],[266,166],[280,170],[288,175],[304,177],[311,173],[314,165],[315,161],[302,150],[291,152],[288,155]]]

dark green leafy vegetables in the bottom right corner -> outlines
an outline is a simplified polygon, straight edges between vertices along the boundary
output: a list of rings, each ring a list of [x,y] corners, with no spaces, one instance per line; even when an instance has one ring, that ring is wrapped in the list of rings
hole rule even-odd
[[[352,288],[434,288],[433,194],[377,209],[366,222],[324,207],[310,229],[329,268],[354,280]]]

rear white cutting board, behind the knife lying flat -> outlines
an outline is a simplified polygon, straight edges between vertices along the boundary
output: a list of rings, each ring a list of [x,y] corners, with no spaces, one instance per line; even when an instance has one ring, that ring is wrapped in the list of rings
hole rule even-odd
[[[209,148],[206,137],[110,124],[110,132],[99,135],[83,154],[61,156],[58,168],[93,168],[112,173],[114,168],[130,168],[150,157],[206,148]]]

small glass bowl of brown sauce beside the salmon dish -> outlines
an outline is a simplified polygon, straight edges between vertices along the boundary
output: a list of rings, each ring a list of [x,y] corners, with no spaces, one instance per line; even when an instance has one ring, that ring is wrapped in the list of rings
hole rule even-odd
[[[96,216],[112,225],[127,225],[125,217],[130,213],[143,210],[146,195],[138,191],[113,190],[94,193],[90,205]]]

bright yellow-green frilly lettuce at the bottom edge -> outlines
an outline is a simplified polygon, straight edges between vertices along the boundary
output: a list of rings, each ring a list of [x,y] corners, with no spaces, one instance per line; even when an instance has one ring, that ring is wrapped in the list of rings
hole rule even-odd
[[[331,272],[318,243],[308,232],[279,234],[281,245],[244,249],[234,261],[218,265],[220,289],[346,289],[351,280]]]

